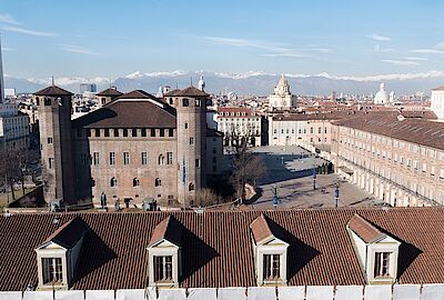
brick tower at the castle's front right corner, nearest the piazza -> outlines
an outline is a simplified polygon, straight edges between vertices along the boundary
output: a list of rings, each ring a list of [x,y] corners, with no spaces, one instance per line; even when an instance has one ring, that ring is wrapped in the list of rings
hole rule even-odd
[[[194,87],[171,91],[176,109],[178,200],[185,207],[195,203],[196,192],[205,187],[206,99]]]

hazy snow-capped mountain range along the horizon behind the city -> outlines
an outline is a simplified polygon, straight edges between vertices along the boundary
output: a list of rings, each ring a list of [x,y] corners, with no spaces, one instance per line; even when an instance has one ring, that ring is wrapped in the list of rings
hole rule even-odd
[[[272,93],[273,87],[278,83],[281,74],[265,72],[246,73],[218,73],[218,72],[134,72],[120,77],[111,82],[108,78],[56,78],[57,86],[78,93],[80,83],[95,83],[98,90],[103,90],[115,86],[119,90],[127,92],[130,90],[142,89],[151,93],[157,93],[160,86],[171,88],[184,88],[194,83],[196,86],[200,76],[204,77],[206,88],[211,93],[234,92],[238,94],[268,96]],[[430,94],[431,89],[444,84],[443,71],[428,71],[424,73],[405,74],[383,74],[373,77],[333,77],[327,73],[314,76],[306,74],[285,74],[291,90],[294,94],[327,96],[332,91],[345,94],[371,94],[379,90],[381,82],[384,82],[387,91],[397,94],[413,94],[424,92]],[[16,92],[34,92],[46,86],[51,84],[50,78],[44,79],[21,79],[10,76],[4,77],[6,88],[13,88]]]

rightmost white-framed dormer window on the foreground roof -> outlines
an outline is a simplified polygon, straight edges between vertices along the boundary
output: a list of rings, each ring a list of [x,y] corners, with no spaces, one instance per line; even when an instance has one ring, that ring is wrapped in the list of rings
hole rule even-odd
[[[347,223],[356,254],[369,284],[393,283],[397,277],[401,242],[359,214]]]

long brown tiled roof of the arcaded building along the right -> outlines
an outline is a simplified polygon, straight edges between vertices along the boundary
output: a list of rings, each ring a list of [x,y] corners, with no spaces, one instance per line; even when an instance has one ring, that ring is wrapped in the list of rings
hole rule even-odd
[[[444,122],[420,118],[397,118],[394,112],[369,112],[334,124],[444,150]]]

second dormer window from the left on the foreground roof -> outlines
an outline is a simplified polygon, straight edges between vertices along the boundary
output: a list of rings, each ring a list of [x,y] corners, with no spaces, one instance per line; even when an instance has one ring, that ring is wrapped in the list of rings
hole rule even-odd
[[[150,287],[179,287],[181,240],[182,224],[173,217],[168,217],[154,228],[147,247]]]

